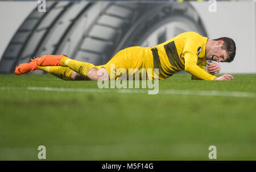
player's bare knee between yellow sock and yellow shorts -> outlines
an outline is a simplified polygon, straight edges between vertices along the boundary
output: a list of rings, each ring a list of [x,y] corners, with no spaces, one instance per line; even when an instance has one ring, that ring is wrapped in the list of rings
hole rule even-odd
[[[91,68],[87,76],[90,80],[108,80],[109,74],[105,68],[97,69],[96,67]]]

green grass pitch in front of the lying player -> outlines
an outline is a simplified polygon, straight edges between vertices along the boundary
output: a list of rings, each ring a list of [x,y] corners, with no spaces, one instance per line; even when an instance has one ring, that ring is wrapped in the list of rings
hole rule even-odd
[[[256,93],[255,74],[192,81],[177,74],[159,90]],[[256,160],[256,97],[58,92],[27,87],[94,88],[97,81],[52,75],[0,75],[0,160]]]

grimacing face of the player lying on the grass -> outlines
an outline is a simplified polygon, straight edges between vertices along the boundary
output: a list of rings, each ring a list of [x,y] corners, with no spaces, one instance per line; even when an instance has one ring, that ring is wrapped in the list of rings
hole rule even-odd
[[[216,62],[225,62],[228,58],[228,54],[226,53],[226,50],[221,49],[222,44],[222,40],[217,41],[216,44],[209,50],[208,54],[206,55],[206,59]]]

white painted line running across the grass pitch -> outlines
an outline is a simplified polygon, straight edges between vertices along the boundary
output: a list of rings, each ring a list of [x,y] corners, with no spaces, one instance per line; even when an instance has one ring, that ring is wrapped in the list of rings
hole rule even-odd
[[[54,88],[54,87],[0,87],[0,90],[20,89],[32,91],[56,91],[56,92],[85,92],[85,93],[141,93],[147,94],[147,89],[85,89],[85,88]],[[164,89],[159,94],[180,94],[180,95],[200,95],[200,96],[225,96],[225,97],[256,97],[253,92],[233,92],[233,91],[197,91],[182,89]]]

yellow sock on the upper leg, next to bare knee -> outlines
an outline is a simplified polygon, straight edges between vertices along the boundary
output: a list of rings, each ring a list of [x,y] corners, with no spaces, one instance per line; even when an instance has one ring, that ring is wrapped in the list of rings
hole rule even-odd
[[[82,76],[87,76],[88,71],[95,67],[92,63],[75,61],[67,57],[62,58],[60,62],[61,66],[68,66],[73,71],[79,73]]]

